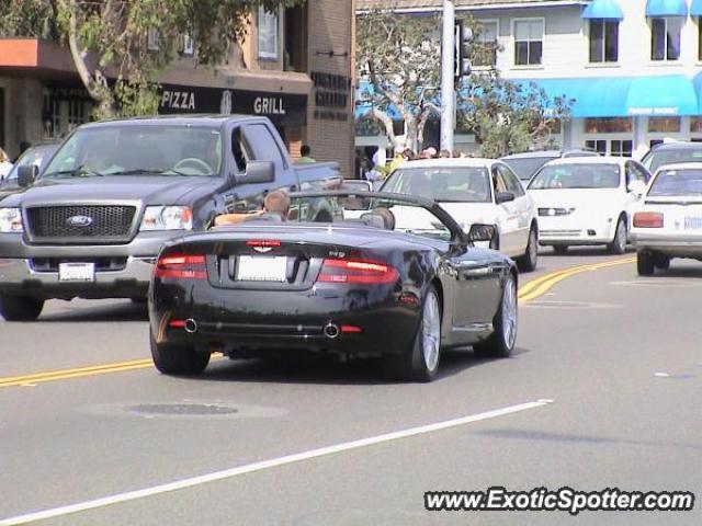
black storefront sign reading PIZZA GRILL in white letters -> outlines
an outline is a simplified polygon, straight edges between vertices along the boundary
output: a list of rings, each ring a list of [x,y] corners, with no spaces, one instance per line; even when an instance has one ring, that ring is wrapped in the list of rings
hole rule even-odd
[[[241,113],[269,117],[280,126],[304,126],[307,95],[163,84],[159,113]]]

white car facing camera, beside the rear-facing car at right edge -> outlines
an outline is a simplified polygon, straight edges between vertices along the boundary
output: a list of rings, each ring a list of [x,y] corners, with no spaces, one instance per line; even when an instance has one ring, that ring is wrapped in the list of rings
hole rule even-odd
[[[557,253],[570,245],[593,244],[624,253],[630,208],[649,178],[639,162],[620,157],[547,162],[528,187],[539,210],[540,243]]]

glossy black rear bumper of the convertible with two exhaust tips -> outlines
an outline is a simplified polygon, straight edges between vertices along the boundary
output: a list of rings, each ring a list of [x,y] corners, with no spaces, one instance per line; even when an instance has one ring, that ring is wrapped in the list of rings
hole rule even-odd
[[[155,285],[149,298],[158,343],[186,344],[227,355],[270,351],[383,355],[408,352],[419,323],[418,306],[404,305],[394,287],[313,287],[298,291],[214,290],[199,294]],[[194,320],[196,331],[169,327]],[[325,333],[333,327],[339,334]],[[360,332],[343,332],[358,328]],[[356,331],[356,329],[352,329]]]

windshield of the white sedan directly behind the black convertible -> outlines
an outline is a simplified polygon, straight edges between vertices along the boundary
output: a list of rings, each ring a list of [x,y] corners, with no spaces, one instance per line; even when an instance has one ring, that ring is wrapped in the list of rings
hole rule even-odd
[[[383,192],[428,197],[442,203],[489,203],[487,170],[479,167],[405,168],[394,172]]]

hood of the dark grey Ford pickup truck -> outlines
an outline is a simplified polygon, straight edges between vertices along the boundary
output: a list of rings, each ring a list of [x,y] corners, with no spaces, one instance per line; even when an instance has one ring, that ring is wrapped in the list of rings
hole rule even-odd
[[[216,185],[214,178],[100,176],[39,180],[21,194],[8,196],[2,206],[88,202],[143,202],[146,205],[179,205],[203,186]]]

